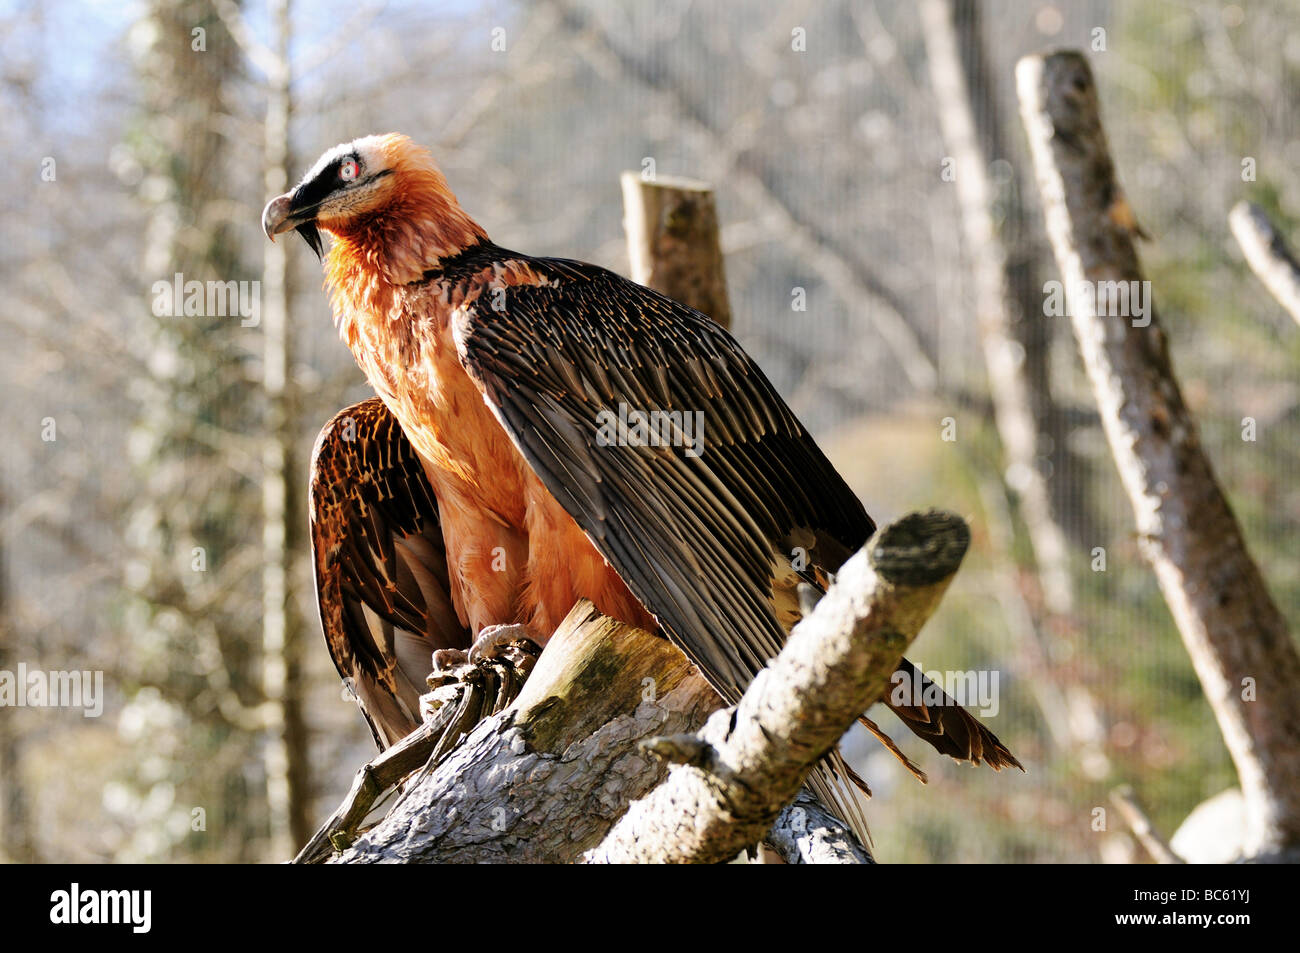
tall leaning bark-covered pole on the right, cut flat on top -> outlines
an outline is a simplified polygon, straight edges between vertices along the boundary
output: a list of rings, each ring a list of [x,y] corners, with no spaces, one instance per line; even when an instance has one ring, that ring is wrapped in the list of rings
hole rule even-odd
[[[1295,846],[1300,657],[1201,447],[1154,308],[1132,319],[1097,307],[1097,282],[1141,282],[1143,273],[1092,72],[1078,52],[1030,56],[1017,82],[1075,338],[1141,550],[1242,780],[1244,849]]]

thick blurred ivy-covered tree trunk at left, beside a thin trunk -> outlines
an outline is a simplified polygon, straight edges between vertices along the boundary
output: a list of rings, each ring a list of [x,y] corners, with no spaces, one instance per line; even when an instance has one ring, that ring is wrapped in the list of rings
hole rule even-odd
[[[151,0],[139,30],[150,40],[136,60],[143,112],[133,139],[148,213],[143,309],[151,285],[176,274],[182,282],[252,276],[240,268],[230,226],[235,186],[222,125],[240,78],[238,49],[211,0]],[[187,725],[183,757],[166,779],[183,798],[178,807],[202,807],[220,826],[220,836],[195,832],[191,855],[254,861],[265,837],[261,797],[229,770],[255,758],[250,727],[261,720],[248,632],[257,588],[243,558],[257,475],[237,469],[233,451],[257,419],[243,348],[250,332],[229,303],[225,315],[207,313],[205,296],[198,315],[176,311],[146,313],[131,347],[150,373],[131,385],[138,482],[127,516],[126,586],[135,598],[126,629],[142,651],[133,666],[140,683],[157,686]],[[130,698],[136,686],[124,688]],[[138,784],[143,797],[159,779]]]

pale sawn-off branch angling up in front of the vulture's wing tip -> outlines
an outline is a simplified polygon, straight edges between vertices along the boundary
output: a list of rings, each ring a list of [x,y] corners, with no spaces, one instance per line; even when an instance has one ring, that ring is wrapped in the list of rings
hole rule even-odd
[[[734,709],[698,735],[660,741],[677,767],[584,859],[710,863],[759,841],[812,766],[885,694],[968,545],[966,523],[941,512],[876,533]]]

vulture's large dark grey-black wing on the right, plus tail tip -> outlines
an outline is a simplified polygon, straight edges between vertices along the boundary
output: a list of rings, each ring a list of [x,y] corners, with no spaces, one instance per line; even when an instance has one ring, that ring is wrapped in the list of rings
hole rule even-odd
[[[734,702],[784,642],[772,601],[777,577],[792,572],[792,533],[819,541],[811,558],[833,572],[875,527],[710,319],[593,265],[516,257],[552,281],[511,287],[504,312],[480,306],[464,319],[465,369],[547,489]],[[602,446],[601,415],[620,404],[698,411],[703,452]],[[1017,764],[956,705],[894,711],[945,754]]]

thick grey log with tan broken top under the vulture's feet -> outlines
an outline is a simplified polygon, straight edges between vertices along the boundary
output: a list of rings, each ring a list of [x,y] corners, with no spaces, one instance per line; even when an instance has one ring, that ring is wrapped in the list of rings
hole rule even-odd
[[[569,862],[663,776],[636,742],[689,731],[720,703],[667,640],[581,602],[515,702],[335,862]]]

